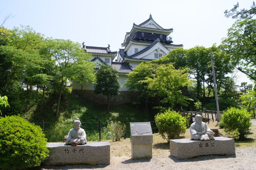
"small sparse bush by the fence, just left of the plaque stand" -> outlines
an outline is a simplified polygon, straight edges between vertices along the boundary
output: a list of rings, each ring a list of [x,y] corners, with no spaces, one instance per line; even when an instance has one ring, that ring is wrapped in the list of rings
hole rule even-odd
[[[126,130],[126,125],[122,126],[122,123],[120,121],[113,122],[110,121],[108,123],[108,126],[103,130],[104,132],[107,132],[107,136],[109,139],[120,140],[120,138],[124,135]]]

